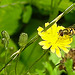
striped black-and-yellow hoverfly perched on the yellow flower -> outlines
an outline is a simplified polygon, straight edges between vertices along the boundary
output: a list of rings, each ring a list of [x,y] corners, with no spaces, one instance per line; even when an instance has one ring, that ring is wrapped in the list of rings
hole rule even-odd
[[[60,36],[63,36],[63,35],[69,35],[69,36],[72,36],[72,35],[75,35],[75,24],[68,27],[68,28],[65,28],[65,29],[60,29],[59,30],[59,35]]]

